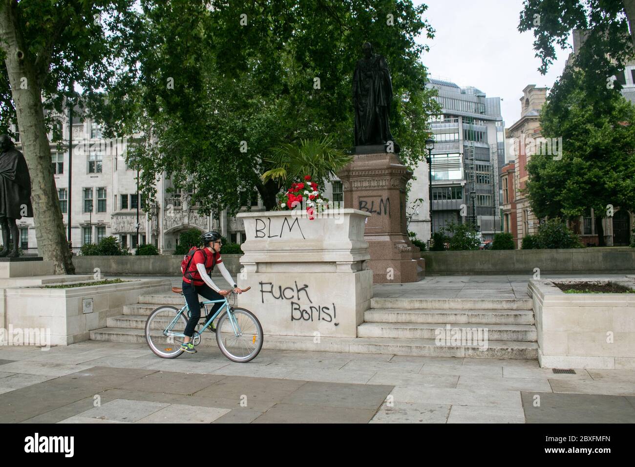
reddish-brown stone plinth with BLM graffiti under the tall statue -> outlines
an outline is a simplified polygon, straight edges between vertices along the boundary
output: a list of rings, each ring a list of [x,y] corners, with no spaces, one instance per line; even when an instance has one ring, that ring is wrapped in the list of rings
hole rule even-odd
[[[356,147],[351,164],[338,174],[344,206],[371,214],[364,229],[373,283],[415,282],[424,274],[419,248],[408,239],[406,183],[412,172],[382,146]]]

